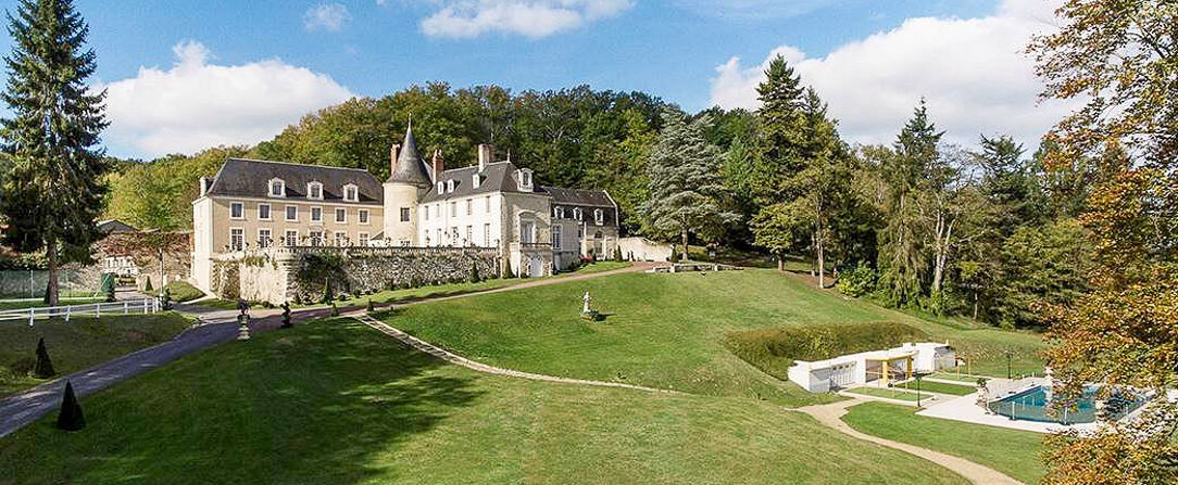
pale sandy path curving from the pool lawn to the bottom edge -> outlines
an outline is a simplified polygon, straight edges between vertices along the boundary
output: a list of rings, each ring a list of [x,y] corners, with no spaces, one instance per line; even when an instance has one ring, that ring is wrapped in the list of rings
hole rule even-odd
[[[839,403],[822,404],[816,406],[799,407],[798,411],[803,412],[818,419],[819,423],[827,425],[848,434],[854,438],[859,438],[865,441],[871,441],[880,446],[887,446],[889,449],[900,450],[902,452],[914,454],[916,457],[924,458],[946,469],[949,469],[958,474],[965,477],[967,480],[979,484],[979,485],[1018,485],[1021,481],[1015,480],[1006,474],[990,469],[977,463],[954,457],[952,454],[941,453],[939,451],[932,451],[928,449],[922,449],[920,446],[913,446],[907,443],[893,441],[891,439],[884,439],[880,437],[874,437],[871,434],[861,433],[855,431],[849,425],[842,421],[842,416],[847,413],[847,407],[854,406],[856,404],[863,404],[867,400],[863,399],[849,399]]]

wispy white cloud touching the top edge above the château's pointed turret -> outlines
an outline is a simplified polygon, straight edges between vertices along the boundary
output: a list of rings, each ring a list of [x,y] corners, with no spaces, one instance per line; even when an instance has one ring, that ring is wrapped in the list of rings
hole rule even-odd
[[[542,38],[617,15],[633,0],[434,0],[421,22],[431,36],[474,38],[490,32]]]

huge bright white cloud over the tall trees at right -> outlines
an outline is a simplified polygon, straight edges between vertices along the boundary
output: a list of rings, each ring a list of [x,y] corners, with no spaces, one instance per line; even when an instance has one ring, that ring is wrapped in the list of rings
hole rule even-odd
[[[756,108],[756,85],[780,53],[830,105],[853,141],[891,142],[925,97],[933,121],[948,132],[946,141],[974,145],[981,133],[1001,133],[1033,148],[1074,106],[1038,102],[1041,84],[1025,54],[1032,34],[1058,25],[1052,5],[1058,0],[1005,0],[984,18],[908,19],[823,58],[790,46],[774,49],[760,66],[744,67],[732,58],[716,67],[712,102]]]

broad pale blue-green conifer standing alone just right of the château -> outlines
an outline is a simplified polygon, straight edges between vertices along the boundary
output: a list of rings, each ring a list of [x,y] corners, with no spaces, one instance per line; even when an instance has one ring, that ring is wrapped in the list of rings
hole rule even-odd
[[[650,154],[650,200],[642,205],[646,227],[654,235],[674,238],[688,254],[690,233],[713,240],[740,215],[720,205],[726,194],[720,173],[720,150],[703,138],[707,117],[688,124],[682,112],[663,112],[663,132]]]

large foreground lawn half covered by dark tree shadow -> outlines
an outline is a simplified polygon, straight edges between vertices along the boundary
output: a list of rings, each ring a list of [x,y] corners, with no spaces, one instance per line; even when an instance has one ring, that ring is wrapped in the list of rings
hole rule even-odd
[[[0,440],[0,484],[959,484],[763,401],[525,381],[350,320],[184,358]],[[821,457],[820,460],[815,460]]]

